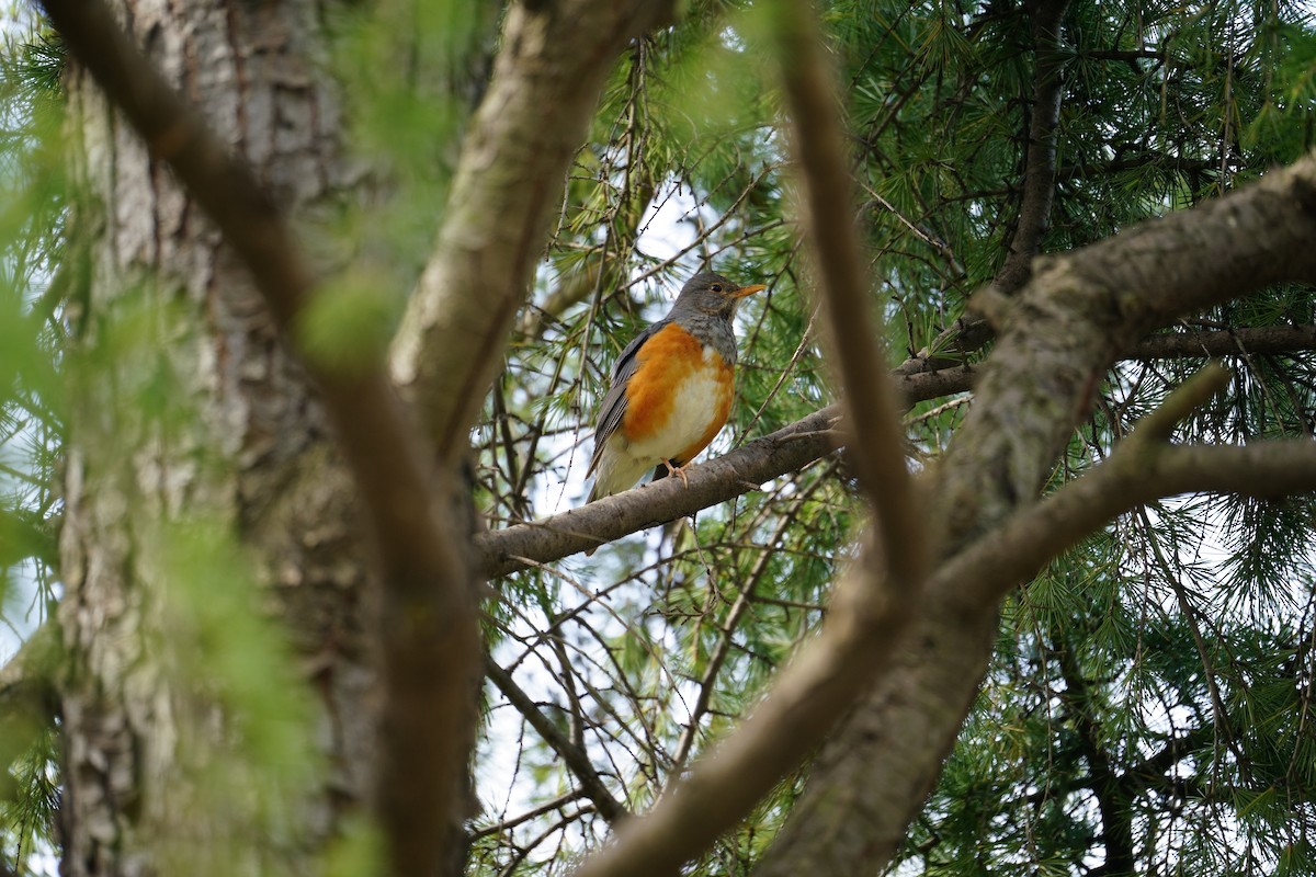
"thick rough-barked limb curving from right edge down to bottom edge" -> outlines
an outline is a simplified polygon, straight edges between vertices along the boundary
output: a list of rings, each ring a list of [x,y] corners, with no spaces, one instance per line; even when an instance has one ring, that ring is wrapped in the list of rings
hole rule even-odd
[[[969,542],[1036,502],[1119,351],[1155,326],[1230,296],[1312,280],[1312,239],[1316,155],[1191,210],[1046,258],[1017,296],[998,296],[1004,306],[996,348],[983,367],[976,401],[934,472],[930,519],[945,529],[940,544],[954,555],[951,563]],[[1136,494],[1137,484],[1128,489]],[[1048,556],[1065,547],[1050,546]],[[979,563],[959,572],[973,581],[983,568],[994,567]],[[776,873],[844,873],[861,857],[871,861],[875,851],[883,860],[891,855],[970,709],[991,653],[996,602],[1029,572],[1026,564],[1013,568],[986,594],[976,586],[942,593],[929,582],[903,647],[905,659],[874,680],[815,763],[811,789],[778,835],[779,845],[792,848],[774,859]]]

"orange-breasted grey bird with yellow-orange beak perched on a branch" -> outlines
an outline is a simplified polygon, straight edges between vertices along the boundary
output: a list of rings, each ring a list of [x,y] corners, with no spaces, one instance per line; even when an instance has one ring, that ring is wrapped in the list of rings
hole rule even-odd
[[[654,479],[675,475],[690,486],[686,467],[732,410],[736,308],[766,288],[696,273],[667,316],[626,344],[599,406],[588,502],[629,490],[650,469]]]

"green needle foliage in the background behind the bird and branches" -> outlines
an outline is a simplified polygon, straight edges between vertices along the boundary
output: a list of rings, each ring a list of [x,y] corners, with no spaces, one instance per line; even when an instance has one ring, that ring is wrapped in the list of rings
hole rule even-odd
[[[944,339],[1020,234],[1038,62],[1028,9],[821,4],[894,363],[987,352]],[[544,312],[522,323],[478,434],[494,521],[583,497],[607,364],[707,266],[771,287],[737,321],[738,400],[712,452],[830,398],[762,14],[762,4],[691,4],[613,71],[537,283]],[[1050,58],[1062,101],[1041,249],[1100,241],[1308,150],[1312,33],[1290,3],[1071,4]],[[1308,287],[1267,289],[1188,327],[1311,325],[1312,301]],[[1112,369],[1049,489],[1099,464],[1200,363]],[[1178,439],[1309,435],[1308,354],[1230,364],[1234,385]],[[967,397],[915,406],[920,464],[936,464],[967,408]],[[687,744],[701,751],[729,730],[816,627],[855,514],[844,460],[824,460],[692,522],[519,573],[500,585],[495,656],[554,705],[615,794],[642,807],[687,763]],[[1309,648],[1299,643],[1316,623],[1311,533],[1304,498],[1192,497],[1055,560],[1007,602],[987,684],[896,873],[1300,873],[1316,789],[1313,724],[1300,718]],[[492,827],[572,778],[490,698],[491,732],[521,727],[517,760],[536,765],[534,781],[507,786],[511,798],[484,793],[479,824]],[[779,789],[697,873],[747,872],[795,789]],[[592,845],[600,831],[578,806],[490,828],[480,873],[513,861],[558,872],[549,849]]]

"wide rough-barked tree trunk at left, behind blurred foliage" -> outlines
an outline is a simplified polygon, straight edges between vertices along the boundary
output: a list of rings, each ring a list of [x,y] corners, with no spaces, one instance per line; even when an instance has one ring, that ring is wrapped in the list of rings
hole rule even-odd
[[[324,4],[125,0],[120,13],[291,216],[351,196]],[[63,872],[318,870],[367,792],[374,735],[350,484],[213,226],[76,62],[68,91],[87,250],[61,538]],[[254,605],[280,632],[224,613]],[[286,630],[316,702],[299,713],[290,694],[276,719],[240,718],[276,690]],[[315,757],[288,765],[280,721],[313,723]],[[270,765],[286,776],[251,782]],[[268,806],[271,785],[295,806]]]

